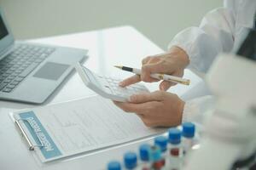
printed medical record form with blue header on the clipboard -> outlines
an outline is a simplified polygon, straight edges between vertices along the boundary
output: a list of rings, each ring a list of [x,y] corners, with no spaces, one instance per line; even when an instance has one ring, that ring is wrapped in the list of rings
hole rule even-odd
[[[93,96],[14,113],[35,144],[41,161],[53,161],[164,132],[146,127],[109,99]]]

